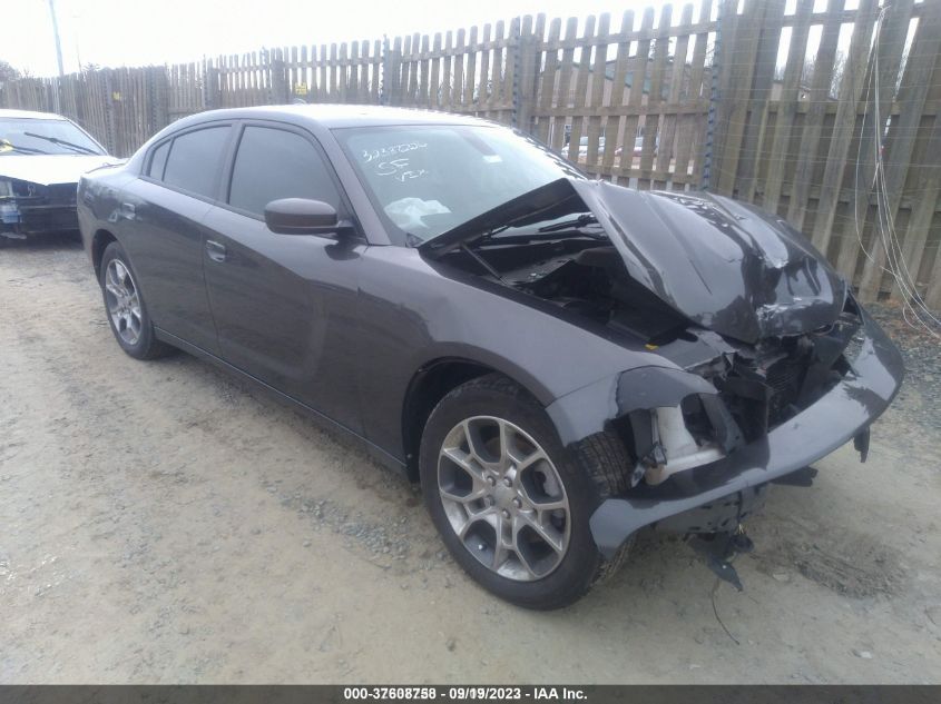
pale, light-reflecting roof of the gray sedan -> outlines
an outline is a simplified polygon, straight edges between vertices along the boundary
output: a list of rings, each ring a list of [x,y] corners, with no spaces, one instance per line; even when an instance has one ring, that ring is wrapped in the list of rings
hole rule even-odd
[[[490,125],[469,115],[356,105],[285,105],[228,108],[199,112],[185,119],[197,123],[206,119],[287,119],[292,122],[316,122],[329,129],[393,125]],[[180,120],[178,125],[183,125]],[[177,123],[175,123],[177,125]]]

